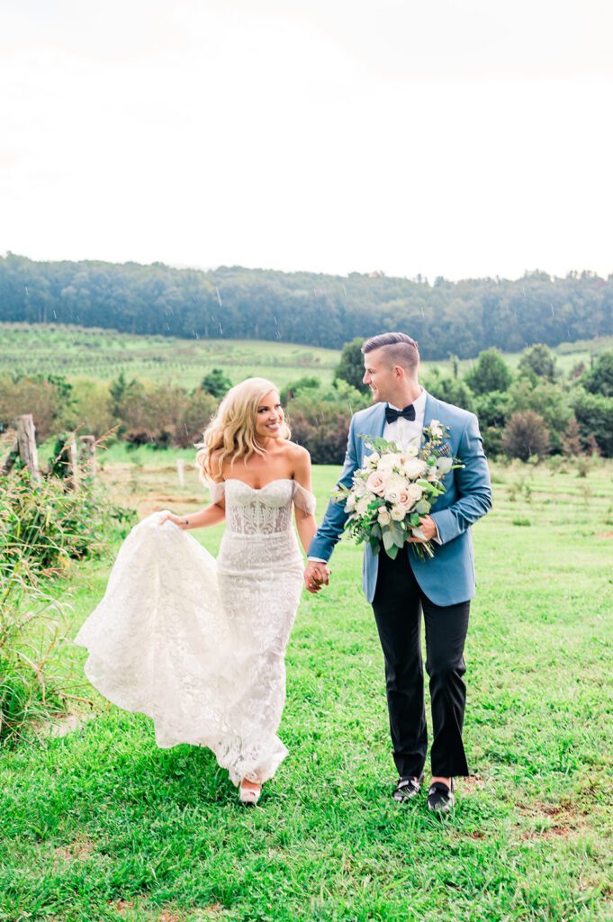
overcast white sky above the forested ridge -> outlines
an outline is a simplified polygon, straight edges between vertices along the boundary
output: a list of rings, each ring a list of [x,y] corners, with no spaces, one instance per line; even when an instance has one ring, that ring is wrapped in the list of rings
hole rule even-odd
[[[0,0],[0,253],[613,272],[610,0]]]

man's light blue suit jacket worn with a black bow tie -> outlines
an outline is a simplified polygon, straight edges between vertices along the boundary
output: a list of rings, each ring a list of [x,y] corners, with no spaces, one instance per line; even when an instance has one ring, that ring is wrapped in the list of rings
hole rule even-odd
[[[430,425],[430,420],[439,420],[448,428],[446,441],[449,442],[451,454],[460,458],[464,467],[452,470],[445,476],[445,492],[432,506],[431,516],[441,538],[441,544],[434,545],[434,557],[420,561],[410,544],[406,544],[401,553],[408,554],[418,584],[430,601],[435,605],[457,605],[475,595],[470,526],[491,507],[489,468],[474,413],[468,413],[465,409],[444,403],[428,394],[424,427]],[[339,486],[351,486],[355,471],[362,466],[365,455],[371,453],[360,435],[382,436],[384,427],[384,403],[361,409],[353,416]],[[345,503],[330,501],[324,521],[312,539],[309,556],[328,561],[347,519]],[[362,588],[369,602],[374,598],[378,569],[379,554],[373,553],[371,546],[366,543]]]

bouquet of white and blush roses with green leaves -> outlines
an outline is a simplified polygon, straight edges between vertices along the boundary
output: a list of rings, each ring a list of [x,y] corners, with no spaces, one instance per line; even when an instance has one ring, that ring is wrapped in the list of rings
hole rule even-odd
[[[395,558],[408,538],[421,538],[412,544],[420,560],[433,557],[431,541],[424,541],[419,517],[430,509],[445,488],[445,474],[461,463],[449,453],[445,443],[448,431],[438,420],[423,430],[423,444],[411,444],[401,451],[394,442],[363,436],[372,452],[353,476],[353,485],[333,493],[336,502],[345,500],[349,513],[345,530],[357,543],[369,541],[376,553],[383,544],[385,553]]]

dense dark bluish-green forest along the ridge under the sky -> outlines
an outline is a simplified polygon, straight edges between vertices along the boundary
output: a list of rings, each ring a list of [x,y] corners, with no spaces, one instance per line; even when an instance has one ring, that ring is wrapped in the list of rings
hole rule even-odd
[[[401,329],[424,359],[613,335],[613,276],[347,278],[240,266],[35,262],[0,257],[0,321],[107,327],[176,337],[280,339],[340,348]]]

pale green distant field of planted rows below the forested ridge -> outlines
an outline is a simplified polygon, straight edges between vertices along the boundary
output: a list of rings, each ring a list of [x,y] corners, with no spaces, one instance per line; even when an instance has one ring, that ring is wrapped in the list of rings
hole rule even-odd
[[[298,320],[298,318],[297,318]],[[590,355],[613,348],[613,337],[564,343],[555,349],[559,365],[569,372]],[[519,352],[509,352],[512,367]],[[111,381],[120,372],[156,382],[195,386],[213,367],[222,368],[233,382],[251,375],[272,378],[279,386],[301,375],[331,381],[338,361],[337,349],[320,349],[295,343],[253,339],[178,339],[132,336],[112,330],[61,325],[0,324],[0,374],[55,373],[69,379],[82,377]],[[470,360],[462,361],[466,369]],[[424,371],[449,362],[424,361]]]

